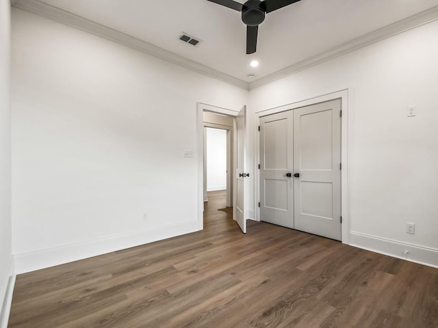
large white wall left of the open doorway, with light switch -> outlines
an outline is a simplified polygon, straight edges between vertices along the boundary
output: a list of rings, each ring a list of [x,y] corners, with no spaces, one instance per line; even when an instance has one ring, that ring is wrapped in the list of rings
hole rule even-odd
[[[183,157],[196,150],[196,102],[238,110],[247,96],[14,9],[17,271],[197,230],[196,155]]]

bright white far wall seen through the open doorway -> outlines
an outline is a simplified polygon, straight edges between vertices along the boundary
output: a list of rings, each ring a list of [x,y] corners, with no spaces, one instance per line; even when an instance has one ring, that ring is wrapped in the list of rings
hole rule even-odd
[[[206,128],[207,191],[227,189],[227,130]]]

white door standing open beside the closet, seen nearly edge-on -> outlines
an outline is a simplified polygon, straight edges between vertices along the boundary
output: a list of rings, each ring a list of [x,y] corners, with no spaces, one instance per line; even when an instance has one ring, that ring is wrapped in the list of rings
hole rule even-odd
[[[246,213],[245,213],[245,193],[246,180],[249,176],[246,173],[246,106],[242,108],[235,118],[235,201],[233,203],[233,217],[237,224],[246,234]]]

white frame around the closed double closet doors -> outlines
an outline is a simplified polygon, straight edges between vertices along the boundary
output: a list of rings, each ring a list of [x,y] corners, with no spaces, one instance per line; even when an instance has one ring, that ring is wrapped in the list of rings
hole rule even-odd
[[[263,109],[261,111],[257,111],[255,113],[255,131],[258,131],[258,126],[260,122],[260,118],[262,116],[280,113],[282,111],[289,111],[291,109],[297,109],[299,107],[305,107],[309,105],[315,105],[320,102],[326,102],[329,100],[341,99],[341,109],[342,109],[342,122],[341,122],[341,163],[342,163],[342,172],[341,172],[341,215],[342,215],[342,243],[350,244],[350,193],[349,193],[349,158],[348,153],[352,144],[352,136],[349,134],[348,126],[351,124],[350,120],[352,120],[351,115],[348,115],[348,93],[349,89],[339,90],[337,92],[331,92],[329,94],[324,94],[322,96],[315,96],[311,98],[307,98],[305,100],[300,100],[297,102],[292,102],[287,105],[274,107],[270,109]],[[260,144],[259,137],[255,137],[255,159],[260,159]],[[257,162],[258,163],[258,162]],[[255,175],[255,195],[257,200],[260,201],[260,174]],[[255,213],[256,221],[260,221],[260,210],[257,208]]]

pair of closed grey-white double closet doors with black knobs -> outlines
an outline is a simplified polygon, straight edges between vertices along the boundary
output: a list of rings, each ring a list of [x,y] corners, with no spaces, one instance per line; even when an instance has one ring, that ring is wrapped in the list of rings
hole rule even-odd
[[[260,219],[342,240],[341,100],[260,118]]]

